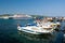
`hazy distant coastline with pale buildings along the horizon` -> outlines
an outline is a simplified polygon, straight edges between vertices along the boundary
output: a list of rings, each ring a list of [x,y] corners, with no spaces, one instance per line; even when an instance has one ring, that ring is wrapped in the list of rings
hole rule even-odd
[[[30,17],[32,17],[32,18],[38,18],[39,16],[41,16],[41,15],[27,15],[26,16],[26,14],[12,14],[12,15],[10,15],[10,14],[2,14],[2,15],[0,15],[0,18],[9,18],[9,17],[11,17],[11,16],[15,16],[16,15],[16,17],[18,17],[17,15],[20,15],[20,16],[22,16],[22,17],[28,17],[28,16],[30,16]],[[24,16],[23,16],[24,15]],[[41,17],[43,17],[43,16],[41,16]]]

